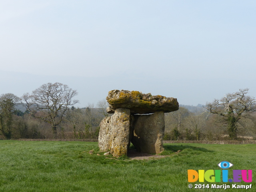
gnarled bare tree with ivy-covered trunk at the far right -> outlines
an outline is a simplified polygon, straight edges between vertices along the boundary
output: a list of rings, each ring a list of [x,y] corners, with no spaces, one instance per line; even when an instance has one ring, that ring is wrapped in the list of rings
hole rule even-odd
[[[206,103],[207,112],[222,116],[228,125],[228,134],[232,139],[237,138],[238,123],[246,114],[256,111],[256,100],[248,96],[248,88],[226,94],[220,100],[215,99]]]

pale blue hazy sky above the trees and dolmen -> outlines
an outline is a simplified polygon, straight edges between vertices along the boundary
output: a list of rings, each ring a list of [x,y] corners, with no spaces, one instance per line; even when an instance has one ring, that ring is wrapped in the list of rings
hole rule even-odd
[[[60,82],[78,107],[110,90],[212,102],[256,96],[256,1],[0,0],[0,94]]]

